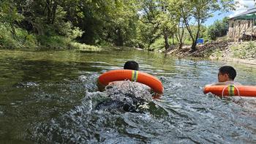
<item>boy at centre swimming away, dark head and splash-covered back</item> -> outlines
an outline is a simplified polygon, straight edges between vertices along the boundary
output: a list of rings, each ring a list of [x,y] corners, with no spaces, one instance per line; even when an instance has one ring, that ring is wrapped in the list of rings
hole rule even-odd
[[[124,69],[138,70],[139,64],[136,61],[127,61]],[[150,87],[129,80],[113,81],[102,90],[105,90],[110,100],[100,102],[97,110],[121,108],[124,111],[138,112],[138,107],[144,107],[147,102],[152,101]]]

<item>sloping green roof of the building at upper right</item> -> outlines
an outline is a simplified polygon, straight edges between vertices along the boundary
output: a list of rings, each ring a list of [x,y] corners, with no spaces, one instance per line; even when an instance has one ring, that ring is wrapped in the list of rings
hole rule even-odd
[[[235,15],[232,18],[229,19],[236,19],[236,20],[253,20],[256,19],[256,7],[247,10],[246,12],[242,12],[241,14]]]

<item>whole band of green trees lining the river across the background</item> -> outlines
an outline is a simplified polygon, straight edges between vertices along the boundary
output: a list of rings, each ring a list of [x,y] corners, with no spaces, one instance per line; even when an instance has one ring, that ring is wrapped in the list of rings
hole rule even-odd
[[[138,46],[149,48],[163,38],[181,48],[185,35],[192,41],[202,33],[203,23],[218,10],[232,10],[232,0],[1,0],[0,24],[43,37],[63,36],[89,45]],[[224,34],[222,22],[208,34]],[[219,29],[219,31],[217,31]],[[223,28],[224,29],[224,28]],[[186,34],[185,34],[186,33]],[[220,34],[219,34],[220,33]]]

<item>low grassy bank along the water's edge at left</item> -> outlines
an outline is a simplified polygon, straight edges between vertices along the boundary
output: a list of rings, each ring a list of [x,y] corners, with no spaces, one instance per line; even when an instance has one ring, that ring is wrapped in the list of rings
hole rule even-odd
[[[69,37],[29,34],[29,32],[24,29],[15,28],[14,31],[10,31],[10,29],[10,26],[0,23],[0,48],[31,50],[100,50],[97,46],[81,44]]]

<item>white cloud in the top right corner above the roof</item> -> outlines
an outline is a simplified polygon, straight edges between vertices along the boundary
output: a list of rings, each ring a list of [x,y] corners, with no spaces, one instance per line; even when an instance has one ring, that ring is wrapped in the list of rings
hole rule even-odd
[[[245,12],[246,10],[249,10],[255,7],[255,1],[253,0],[235,0],[235,1],[237,1],[238,4],[236,4],[236,10],[233,11],[231,15],[229,15],[230,18],[240,14],[241,12]]]

